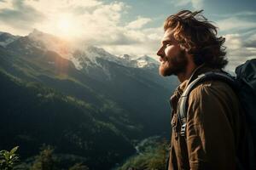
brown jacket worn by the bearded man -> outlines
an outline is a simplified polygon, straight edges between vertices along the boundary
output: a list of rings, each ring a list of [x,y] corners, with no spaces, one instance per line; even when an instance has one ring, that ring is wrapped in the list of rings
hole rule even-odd
[[[236,157],[243,159],[246,130],[241,105],[230,86],[220,81],[202,82],[189,94],[187,127],[180,135],[178,100],[188,82],[212,70],[198,67],[189,80],[180,84],[171,97],[172,139],[169,170],[236,169]]]

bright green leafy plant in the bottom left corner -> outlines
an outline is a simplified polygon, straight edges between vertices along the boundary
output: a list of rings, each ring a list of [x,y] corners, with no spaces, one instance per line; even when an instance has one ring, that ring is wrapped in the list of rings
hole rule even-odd
[[[11,170],[15,167],[19,161],[19,156],[15,154],[19,146],[16,146],[12,150],[1,150],[0,151],[0,169],[1,170]]]

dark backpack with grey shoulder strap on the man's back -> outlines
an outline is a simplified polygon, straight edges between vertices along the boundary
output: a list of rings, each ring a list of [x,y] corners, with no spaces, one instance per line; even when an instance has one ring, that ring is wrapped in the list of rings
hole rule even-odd
[[[236,67],[236,77],[231,77],[230,74],[224,72],[207,72],[198,76],[194,81],[189,82],[180,98],[178,105],[178,119],[181,121],[181,132],[184,136],[186,131],[186,118],[190,92],[201,82],[207,80],[218,80],[226,82],[235,91],[240,99],[241,106],[245,111],[245,117],[249,129],[248,135],[248,158],[250,170],[256,169],[256,59],[247,60],[245,64]],[[237,161],[237,160],[236,160]],[[238,167],[241,163],[238,160]]]

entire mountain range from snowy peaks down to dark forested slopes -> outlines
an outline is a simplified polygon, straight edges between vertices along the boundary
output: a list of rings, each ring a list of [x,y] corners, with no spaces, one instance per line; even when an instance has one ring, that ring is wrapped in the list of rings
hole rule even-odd
[[[63,159],[110,169],[135,153],[134,141],[169,136],[177,80],[160,77],[154,59],[70,47],[40,31],[0,32],[0,150],[19,145],[26,161],[49,144]]]

